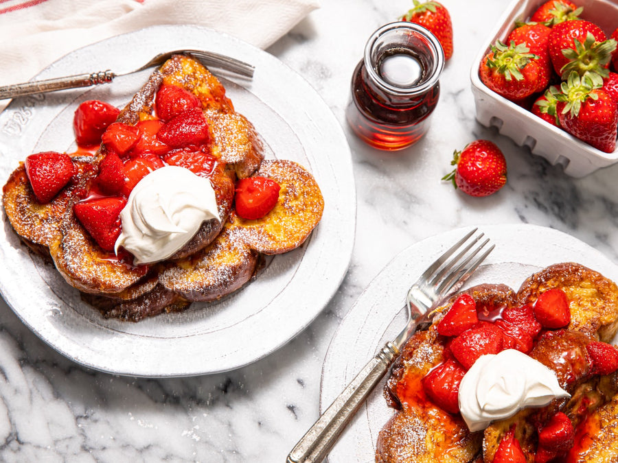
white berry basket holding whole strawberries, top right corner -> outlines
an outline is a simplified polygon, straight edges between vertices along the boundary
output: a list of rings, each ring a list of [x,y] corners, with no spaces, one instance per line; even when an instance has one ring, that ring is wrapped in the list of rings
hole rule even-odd
[[[546,158],[551,165],[562,165],[565,174],[583,177],[618,162],[618,149],[613,153],[597,150],[494,93],[479,78],[479,66],[490,45],[496,40],[506,40],[516,21],[529,19],[542,3],[545,0],[514,0],[483,43],[470,69],[477,119],[483,126],[497,128],[500,134],[508,136],[518,145],[527,146],[533,154]],[[618,0],[573,0],[573,3],[584,8],[582,19],[597,24],[608,37],[618,27]]]

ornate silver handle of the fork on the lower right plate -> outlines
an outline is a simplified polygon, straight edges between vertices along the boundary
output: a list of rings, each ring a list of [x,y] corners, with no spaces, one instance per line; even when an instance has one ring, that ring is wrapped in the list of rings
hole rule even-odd
[[[397,355],[399,349],[387,342],[299,440],[288,455],[287,463],[321,462]]]

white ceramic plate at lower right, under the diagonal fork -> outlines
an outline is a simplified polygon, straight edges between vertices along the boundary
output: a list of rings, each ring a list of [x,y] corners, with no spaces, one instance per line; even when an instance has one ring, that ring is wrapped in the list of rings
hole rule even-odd
[[[468,228],[469,230],[469,228]],[[525,224],[482,226],[481,231],[496,244],[466,286],[505,283],[517,290],[530,274],[553,263],[573,261],[618,281],[618,267],[582,241],[552,228]],[[323,411],[357,372],[405,323],[404,296],[442,252],[464,236],[453,230],[424,239],[391,261],[365,289],[336,331],[326,354],[321,382]],[[378,432],[394,413],[382,396],[385,379],[356,414],[332,449],[329,463],[373,462]]]

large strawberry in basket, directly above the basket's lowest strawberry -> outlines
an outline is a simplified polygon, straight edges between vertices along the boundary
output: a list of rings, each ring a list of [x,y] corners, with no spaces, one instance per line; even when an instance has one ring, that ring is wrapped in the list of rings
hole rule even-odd
[[[600,83],[608,74],[611,54],[616,41],[606,40],[599,26],[589,21],[564,21],[556,24],[549,34],[549,56],[553,69],[562,80],[567,80],[572,71],[580,76],[591,73]]]

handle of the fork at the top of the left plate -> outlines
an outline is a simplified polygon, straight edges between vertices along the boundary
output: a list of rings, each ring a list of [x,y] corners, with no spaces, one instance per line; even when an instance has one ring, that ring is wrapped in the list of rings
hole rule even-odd
[[[115,78],[115,74],[112,71],[101,71],[90,74],[69,75],[63,78],[35,80],[34,82],[25,82],[24,84],[0,86],[0,99],[106,84],[111,82],[113,78]]]

